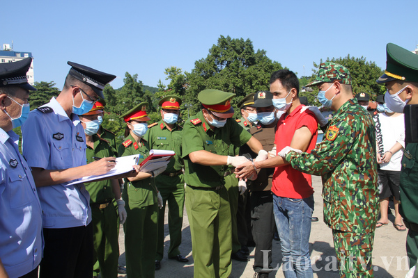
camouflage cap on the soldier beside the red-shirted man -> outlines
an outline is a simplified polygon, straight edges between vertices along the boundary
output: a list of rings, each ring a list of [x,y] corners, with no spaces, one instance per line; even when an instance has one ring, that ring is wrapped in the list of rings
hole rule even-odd
[[[319,65],[318,76],[306,86],[310,87],[320,83],[334,83],[335,81],[341,84],[351,85],[350,71],[343,65],[326,62]]]

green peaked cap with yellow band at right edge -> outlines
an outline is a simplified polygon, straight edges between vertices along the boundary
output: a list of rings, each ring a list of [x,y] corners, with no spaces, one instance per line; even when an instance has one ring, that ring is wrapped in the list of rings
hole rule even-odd
[[[418,55],[396,44],[386,45],[386,70],[377,83],[389,81],[418,82]]]

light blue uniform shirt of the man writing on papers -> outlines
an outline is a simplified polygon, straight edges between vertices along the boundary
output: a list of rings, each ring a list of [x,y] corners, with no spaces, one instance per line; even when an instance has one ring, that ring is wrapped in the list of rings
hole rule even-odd
[[[22,150],[29,166],[61,170],[86,165],[86,137],[75,114],[70,119],[55,98],[29,113],[22,126]],[[90,195],[84,183],[38,188],[44,228],[86,226],[91,222]]]

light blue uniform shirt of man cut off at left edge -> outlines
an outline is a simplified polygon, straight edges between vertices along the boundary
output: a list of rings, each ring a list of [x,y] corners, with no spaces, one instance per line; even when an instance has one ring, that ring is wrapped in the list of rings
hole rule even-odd
[[[0,258],[9,277],[31,272],[42,259],[42,213],[19,136],[0,129]]]

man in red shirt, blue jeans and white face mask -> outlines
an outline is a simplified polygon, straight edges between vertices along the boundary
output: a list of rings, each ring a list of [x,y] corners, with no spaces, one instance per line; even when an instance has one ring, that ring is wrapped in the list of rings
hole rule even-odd
[[[314,113],[300,104],[299,81],[290,70],[273,72],[270,92],[277,109],[276,149],[291,146],[311,152],[316,144],[318,121]],[[314,189],[310,174],[294,170],[280,156],[265,161],[253,161],[237,167],[242,178],[251,177],[256,170],[276,167],[273,176],[274,219],[277,224],[283,254],[285,277],[313,277],[309,259],[309,235],[314,211]]]

